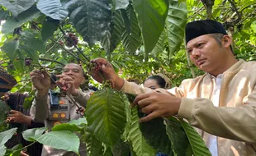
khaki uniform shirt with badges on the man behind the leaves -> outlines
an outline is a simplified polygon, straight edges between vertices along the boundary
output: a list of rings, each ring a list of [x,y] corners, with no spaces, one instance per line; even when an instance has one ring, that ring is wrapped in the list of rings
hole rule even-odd
[[[86,107],[86,103],[90,97],[91,92],[82,92],[79,91],[79,95],[77,97],[73,97],[76,103],[79,106]],[[45,97],[36,98],[33,101],[31,107],[31,117],[35,120],[35,122],[45,122],[45,126],[50,131],[53,126],[59,123],[70,122],[74,119],[78,119],[83,117],[80,113],[76,113],[78,108],[72,100],[69,99],[68,96],[59,97],[59,105],[51,106],[50,98],[46,94]],[[80,142],[79,148],[80,155],[86,155],[86,147]],[[68,152],[62,149],[54,149],[50,146],[44,145],[42,156],[75,156],[73,152]]]

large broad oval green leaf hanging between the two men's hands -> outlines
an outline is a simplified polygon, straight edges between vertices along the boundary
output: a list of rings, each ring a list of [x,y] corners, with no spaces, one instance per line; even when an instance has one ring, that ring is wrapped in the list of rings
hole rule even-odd
[[[123,93],[113,89],[103,89],[92,94],[88,100],[86,117],[93,135],[107,145],[115,145],[126,126]]]

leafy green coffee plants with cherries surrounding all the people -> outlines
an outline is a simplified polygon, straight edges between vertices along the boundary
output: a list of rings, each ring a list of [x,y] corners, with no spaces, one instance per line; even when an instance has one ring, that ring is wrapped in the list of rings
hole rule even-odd
[[[67,62],[77,62],[93,74],[100,69],[90,60],[105,57],[121,77],[140,83],[163,69],[170,73],[173,86],[200,75],[183,44],[187,21],[223,22],[234,38],[236,57],[256,59],[256,2],[251,0],[0,0],[0,5],[0,64],[18,82],[12,92],[29,93],[25,108],[35,94],[29,72],[59,74]],[[82,140],[88,156],[211,155],[183,119],[139,123],[145,114],[130,108],[135,95],[111,89],[115,85],[111,80],[103,84],[89,99],[85,118],[55,126],[48,133],[45,128],[30,129],[23,137],[77,154]],[[4,145],[17,131],[5,124],[6,112],[1,101],[0,155],[20,154],[26,147]]]

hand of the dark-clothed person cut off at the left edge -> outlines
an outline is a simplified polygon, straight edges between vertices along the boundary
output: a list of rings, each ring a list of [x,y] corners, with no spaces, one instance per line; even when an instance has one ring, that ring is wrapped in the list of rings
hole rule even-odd
[[[11,110],[9,116],[7,117],[7,123],[25,123],[26,125],[31,125],[31,117],[28,117],[21,112]]]

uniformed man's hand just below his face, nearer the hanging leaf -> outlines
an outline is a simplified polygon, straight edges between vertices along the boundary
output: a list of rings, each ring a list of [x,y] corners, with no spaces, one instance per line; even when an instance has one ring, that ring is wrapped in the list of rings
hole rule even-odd
[[[71,76],[62,74],[58,75],[57,77],[59,78],[59,80],[57,80],[56,82],[60,87],[66,89],[69,94],[72,94],[73,96],[78,96],[78,89],[75,88],[75,81]]]

